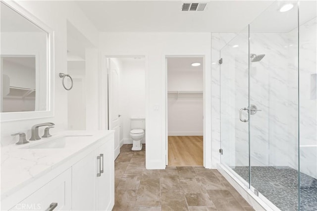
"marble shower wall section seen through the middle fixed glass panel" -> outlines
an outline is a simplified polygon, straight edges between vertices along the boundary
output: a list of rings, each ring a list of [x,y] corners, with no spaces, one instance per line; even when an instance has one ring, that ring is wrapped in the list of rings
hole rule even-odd
[[[250,62],[251,166],[298,169],[297,42],[289,33],[252,33],[250,53],[265,54]]]

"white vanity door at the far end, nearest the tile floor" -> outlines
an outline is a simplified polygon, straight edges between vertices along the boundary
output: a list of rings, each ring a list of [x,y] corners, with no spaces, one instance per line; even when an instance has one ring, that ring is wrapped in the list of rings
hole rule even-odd
[[[114,156],[113,140],[99,148],[101,155],[101,176],[97,178],[97,209],[111,211],[114,205]]]

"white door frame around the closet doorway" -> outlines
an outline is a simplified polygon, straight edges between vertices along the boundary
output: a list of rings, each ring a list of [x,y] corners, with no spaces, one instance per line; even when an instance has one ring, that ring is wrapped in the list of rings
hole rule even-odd
[[[206,106],[206,54],[165,54],[163,56],[163,64],[164,64],[164,96],[165,96],[165,165],[168,166],[168,93],[167,93],[167,58],[179,58],[179,57],[199,57],[203,58],[203,166],[205,168],[210,168],[209,165],[207,164],[208,162],[208,157],[211,157],[211,147],[210,147],[210,152],[207,150],[208,146],[211,146],[211,140],[206,139],[206,125],[207,124],[207,119],[206,114],[207,114],[207,106]]]

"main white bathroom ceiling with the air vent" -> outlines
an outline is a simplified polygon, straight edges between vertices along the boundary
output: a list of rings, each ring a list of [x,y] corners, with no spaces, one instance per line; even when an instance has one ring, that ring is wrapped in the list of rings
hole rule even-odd
[[[188,0],[81,0],[101,32],[239,32],[273,1],[211,0],[205,11],[181,11]],[[194,0],[194,2],[201,2]]]

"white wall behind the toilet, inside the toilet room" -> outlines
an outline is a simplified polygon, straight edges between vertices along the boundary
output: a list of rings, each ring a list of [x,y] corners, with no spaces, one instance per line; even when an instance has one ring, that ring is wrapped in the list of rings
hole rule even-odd
[[[121,60],[119,83],[121,138],[127,144],[132,143],[130,118],[145,117],[145,60]],[[142,143],[145,143],[145,138]]]

